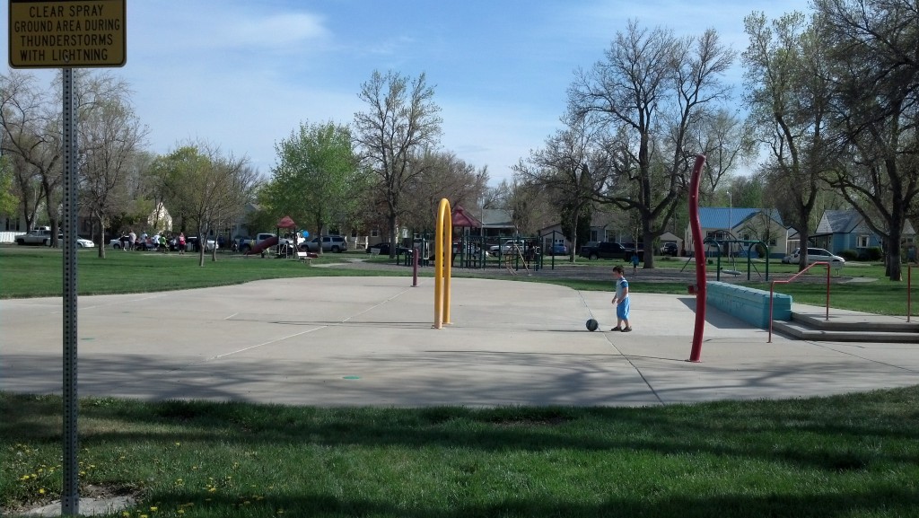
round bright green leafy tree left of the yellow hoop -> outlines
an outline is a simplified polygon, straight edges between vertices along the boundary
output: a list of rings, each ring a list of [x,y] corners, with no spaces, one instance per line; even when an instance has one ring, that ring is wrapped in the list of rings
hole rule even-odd
[[[317,236],[330,222],[344,222],[356,208],[353,193],[365,183],[359,178],[348,128],[331,121],[301,123],[275,149],[278,165],[265,192],[275,215],[309,222]]]

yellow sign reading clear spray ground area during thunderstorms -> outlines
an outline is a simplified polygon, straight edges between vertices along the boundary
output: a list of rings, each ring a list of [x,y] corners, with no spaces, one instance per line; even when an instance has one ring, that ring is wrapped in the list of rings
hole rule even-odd
[[[125,0],[9,0],[12,68],[124,66]]]

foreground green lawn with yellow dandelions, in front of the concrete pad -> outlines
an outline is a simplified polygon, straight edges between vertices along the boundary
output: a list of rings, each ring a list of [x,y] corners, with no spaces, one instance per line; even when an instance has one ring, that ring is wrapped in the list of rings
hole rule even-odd
[[[666,408],[81,403],[124,516],[919,516],[919,389]],[[61,491],[58,397],[0,394],[0,503]],[[121,515],[121,514],[118,514]]]

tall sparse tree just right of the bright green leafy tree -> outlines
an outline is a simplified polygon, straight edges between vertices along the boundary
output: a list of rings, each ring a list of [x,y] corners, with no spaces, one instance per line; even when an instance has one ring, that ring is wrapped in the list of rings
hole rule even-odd
[[[397,223],[405,211],[403,197],[409,195],[405,188],[425,172],[416,158],[436,146],[440,137],[440,107],[424,73],[409,81],[395,72],[374,71],[358,97],[368,104],[368,111],[355,113],[355,140],[362,162],[379,179],[390,241],[395,243]],[[395,251],[390,247],[390,257]]]

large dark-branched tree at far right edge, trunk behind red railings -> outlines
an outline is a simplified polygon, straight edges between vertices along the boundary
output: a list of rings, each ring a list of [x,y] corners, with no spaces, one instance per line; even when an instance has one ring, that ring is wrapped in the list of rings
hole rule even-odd
[[[902,280],[907,214],[919,198],[919,10],[913,2],[817,0],[834,81],[831,186],[881,236]]]

